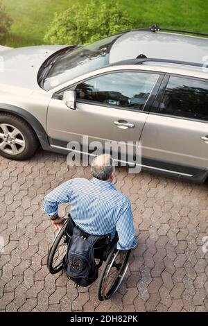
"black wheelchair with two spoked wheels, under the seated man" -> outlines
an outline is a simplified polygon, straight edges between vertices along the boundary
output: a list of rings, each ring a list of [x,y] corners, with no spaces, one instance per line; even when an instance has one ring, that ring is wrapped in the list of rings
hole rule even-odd
[[[67,252],[67,244],[73,233],[74,223],[71,216],[64,221],[62,228],[56,235],[47,259],[49,273],[55,274],[63,270],[62,260]],[[81,232],[85,238],[89,237],[86,232]],[[94,244],[94,257],[98,260],[98,268],[103,265],[101,276],[98,280],[98,300],[108,300],[119,289],[121,282],[128,270],[131,250],[118,250],[116,235],[110,241],[110,234],[101,236]],[[103,264],[104,263],[104,264]]]

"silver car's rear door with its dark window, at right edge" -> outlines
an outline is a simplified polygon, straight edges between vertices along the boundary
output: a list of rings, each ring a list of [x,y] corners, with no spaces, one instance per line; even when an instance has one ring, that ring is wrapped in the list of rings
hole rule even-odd
[[[194,175],[208,167],[208,82],[165,76],[141,135],[142,164]]]

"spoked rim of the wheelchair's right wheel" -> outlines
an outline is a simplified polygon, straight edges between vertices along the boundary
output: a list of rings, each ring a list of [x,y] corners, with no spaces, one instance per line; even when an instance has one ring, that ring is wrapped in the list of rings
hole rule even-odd
[[[101,295],[105,300],[110,298],[110,296],[113,295],[117,289],[119,289],[119,286],[123,281],[123,277],[128,270],[127,261],[129,255],[129,252],[123,252],[122,250],[118,250],[114,253],[112,261],[106,270],[105,276],[103,277],[103,284],[101,286]]]

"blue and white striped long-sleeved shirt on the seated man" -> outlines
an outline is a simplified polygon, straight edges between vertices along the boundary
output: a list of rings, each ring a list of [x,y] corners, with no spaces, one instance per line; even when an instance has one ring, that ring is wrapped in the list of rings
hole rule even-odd
[[[130,200],[109,181],[96,178],[74,178],[51,191],[44,198],[44,212],[58,214],[58,204],[71,204],[74,223],[89,234],[111,234],[117,231],[117,248],[128,250],[137,246]]]

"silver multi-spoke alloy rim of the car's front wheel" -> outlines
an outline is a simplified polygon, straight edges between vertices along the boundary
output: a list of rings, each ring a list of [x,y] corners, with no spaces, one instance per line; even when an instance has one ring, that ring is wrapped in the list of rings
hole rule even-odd
[[[18,128],[8,124],[0,124],[0,150],[10,155],[18,155],[24,151],[26,141]]]

